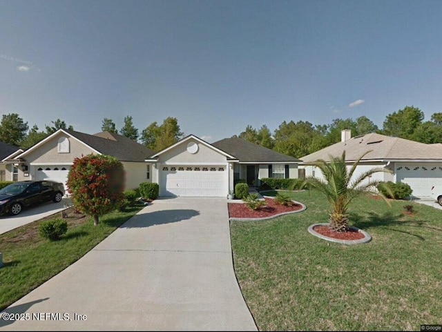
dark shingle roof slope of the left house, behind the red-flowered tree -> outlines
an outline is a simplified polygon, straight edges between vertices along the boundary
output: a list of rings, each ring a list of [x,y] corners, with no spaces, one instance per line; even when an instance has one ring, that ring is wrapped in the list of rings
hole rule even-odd
[[[146,157],[154,153],[150,148],[132,139],[115,133],[108,133],[107,131],[95,135],[79,133],[73,130],[65,131],[99,153],[112,155],[122,162],[144,162]]]

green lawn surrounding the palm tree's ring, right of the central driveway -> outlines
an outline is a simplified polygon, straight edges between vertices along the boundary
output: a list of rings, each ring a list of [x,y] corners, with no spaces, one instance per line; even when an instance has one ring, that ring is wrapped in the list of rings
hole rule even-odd
[[[268,195],[268,194],[266,194]],[[231,222],[236,275],[261,331],[418,330],[442,322],[442,211],[364,196],[350,206],[350,224],[367,244],[345,246],[307,232],[327,222],[328,205],[314,191],[290,193],[307,205],[294,215]]]

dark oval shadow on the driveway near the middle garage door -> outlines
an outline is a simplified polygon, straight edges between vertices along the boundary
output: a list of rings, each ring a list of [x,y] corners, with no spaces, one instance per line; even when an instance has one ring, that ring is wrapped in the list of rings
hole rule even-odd
[[[173,222],[182,222],[200,215],[199,211],[190,209],[162,210],[134,215],[120,228],[141,228],[154,225],[171,224]]]

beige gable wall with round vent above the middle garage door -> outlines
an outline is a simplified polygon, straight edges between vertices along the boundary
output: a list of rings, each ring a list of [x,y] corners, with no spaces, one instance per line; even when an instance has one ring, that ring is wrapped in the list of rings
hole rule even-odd
[[[198,144],[197,153],[189,153],[187,151],[187,145],[191,142]],[[195,139],[189,139],[182,144],[178,144],[169,151],[166,151],[158,159],[160,164],[219,164],[227,165],[227,157],[218,153],[217,151],[209,148],[208,146],[201,144]]]

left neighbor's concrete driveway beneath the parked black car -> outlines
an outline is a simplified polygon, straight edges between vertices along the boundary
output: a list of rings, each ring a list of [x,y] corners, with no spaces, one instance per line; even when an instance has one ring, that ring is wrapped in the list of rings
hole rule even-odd
[[[48,215],[53,215],[64,209],[65,200],[54,203],[44,202],[23,208],[19,215],[1,215],[0,216],[0,234],[6,233],[14,228],[35,222]]]

